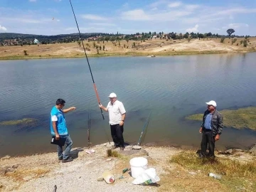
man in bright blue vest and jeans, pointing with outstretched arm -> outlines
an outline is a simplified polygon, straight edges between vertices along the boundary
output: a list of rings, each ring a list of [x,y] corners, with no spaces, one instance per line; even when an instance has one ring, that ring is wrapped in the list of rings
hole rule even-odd
[[[75,107],[70,107],[63,110],[65,106],[65,100],[58,99],[56,105],[50,111],[50,134],[52,134],[56,140],[59,141],[57,145],[58,159],[62,160],[63,163],[73,161],[69,157],[73,142],[68,134],[68,128],[65,123],[64,113],[75,110]],[[63,145],[66,144],[65,151],[63,152]]]

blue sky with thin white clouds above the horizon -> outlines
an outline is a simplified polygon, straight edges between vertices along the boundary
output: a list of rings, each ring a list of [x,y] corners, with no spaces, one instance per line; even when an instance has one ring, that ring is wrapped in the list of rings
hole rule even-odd
[[[72,0],[81,33],[256,36],[255,0]],[[0,0],[0,33],[78,33],[69,0]]]

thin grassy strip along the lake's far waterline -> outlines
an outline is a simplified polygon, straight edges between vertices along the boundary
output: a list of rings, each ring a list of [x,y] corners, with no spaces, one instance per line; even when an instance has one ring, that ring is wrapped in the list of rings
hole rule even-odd
[[[157,56],[179,56],[179,55],[212,55],[212,54],[244,54],[244,53],[255,53],[256,50],[241,50],[241,51],[224,51],[224,50],[203,50],[203,51],[175,51],[175,52],[148,52],[148,53],[101,53],[101,54],[91,54],[87,55],[88,58],[102,58],[102,57],[141,57],[155,55]],[[55,58],[85,58],[85,55],[50,55],[50,56],[6,56],[0,57],[0,60],[33,60],[33,59],[55,59]]]

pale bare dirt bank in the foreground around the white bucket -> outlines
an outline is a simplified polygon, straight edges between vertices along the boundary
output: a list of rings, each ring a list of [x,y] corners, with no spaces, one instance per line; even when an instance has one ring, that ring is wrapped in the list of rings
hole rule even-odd
[[[221,181],[208,177],[201,170],[190,171],[170,163],[172,156],[183,149],[144,146],[142,149],[148,155],[107,157],[109,148],[110,144],[94,146],[95,154],[87,154],[87,148],[73,149],[74,161],[66,164],[58,161],[56,153],[6,156],[0,159],[0,191],[53,191],[55,185],[57,191],[194,191],[196,188],[198,191],[215,191],[209,186],[218,187],[218,191],[229,191]],[[131,146],[125,151],[132,151]],[[161,181],[151,186],[133,185],[134,178],[129,171],[122,174],[122,170],[129,168],[129,160],[134,156],[148,159],[148,168],[155,168]],[[220,154],[218,158],[253,161],[254,157],[240,152],[240,155],[228,157]],[[114,174],[116,181],[113,184],[97,181],[105,170]],[[201,182],[208,184],[201,185]]]

